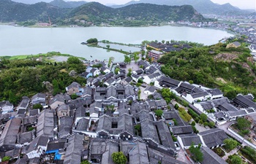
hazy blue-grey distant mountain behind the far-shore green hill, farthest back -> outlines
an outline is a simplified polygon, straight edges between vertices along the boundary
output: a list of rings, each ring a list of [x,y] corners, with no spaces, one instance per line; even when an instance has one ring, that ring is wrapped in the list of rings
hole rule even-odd
[[[130,4],[149,3],[149,4],[165,4],[170,6],[192,5],[201,14],[215,14],[215,15],[227,15],[227,14],[240,14],[246,13],[246,11],[233,7],[231,4],[214,4],[211,0],[140,0],[130,1],[124,5],[115,5],[114,8],[124,7]]]

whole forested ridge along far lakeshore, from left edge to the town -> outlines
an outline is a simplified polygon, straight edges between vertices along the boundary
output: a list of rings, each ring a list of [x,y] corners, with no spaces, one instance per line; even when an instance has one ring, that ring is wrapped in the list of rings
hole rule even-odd
[[[157,4],[132,4],[127,7],[113,9],[97,2],[90,2],[75,9],[67,9],[45,2],[21,4],[9,0],[0,1],[1,22],[26,20],[48,22],[48,17],[53,23],[61,22],[62,25],[73,24],[75,20],[86,20],[95,25],[109,23],[110,25],[119,26],[140,26],[172,20],[205,20],[189,5],[170,7]]]

